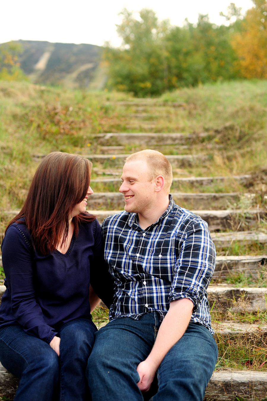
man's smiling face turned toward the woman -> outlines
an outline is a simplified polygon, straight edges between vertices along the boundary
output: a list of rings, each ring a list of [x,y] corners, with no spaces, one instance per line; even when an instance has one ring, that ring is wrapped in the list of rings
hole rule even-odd
[[[126,162],[122,170],[122,192],[126,212],[143,214],[154,203],[155,191],[153,181],[148,180],[148,168],[145,160]]]

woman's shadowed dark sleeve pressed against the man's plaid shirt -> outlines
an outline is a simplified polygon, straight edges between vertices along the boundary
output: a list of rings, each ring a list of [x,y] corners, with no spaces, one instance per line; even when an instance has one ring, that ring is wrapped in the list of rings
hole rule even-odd
[[[114,298],[114,279],[108,270],[108,263],[104,260],[104,242],[100,225],[94,220],[94,260],[90,265],[90,284],[96,295],[110,308]]]

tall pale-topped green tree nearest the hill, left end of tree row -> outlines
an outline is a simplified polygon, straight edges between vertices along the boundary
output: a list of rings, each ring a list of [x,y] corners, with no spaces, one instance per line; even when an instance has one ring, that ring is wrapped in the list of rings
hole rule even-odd
[[[117,32],[122,46],[107,46],[104,58],[109,64],[108,87],[130,91],[137,96],[159,95],[168,88],[165,42],[169,21],[159,22],[153,10],[140,11],[140,19],[122,10]]]

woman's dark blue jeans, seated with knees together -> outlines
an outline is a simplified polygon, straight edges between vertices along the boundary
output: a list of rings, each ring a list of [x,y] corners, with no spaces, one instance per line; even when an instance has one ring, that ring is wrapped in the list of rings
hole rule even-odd
[[[59,330],[59,357],[45,341],[21,326],[0,330],[0,361],[20,379],[14,401],[88,401],[85,377],[96,326],[76,319]]]

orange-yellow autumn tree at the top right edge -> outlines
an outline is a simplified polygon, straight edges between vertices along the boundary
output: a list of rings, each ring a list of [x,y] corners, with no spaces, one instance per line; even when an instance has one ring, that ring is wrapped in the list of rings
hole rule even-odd
[[[244,78],[267,78],[267,2],[253,0],[231,45],[238,55],[237,69]]]

